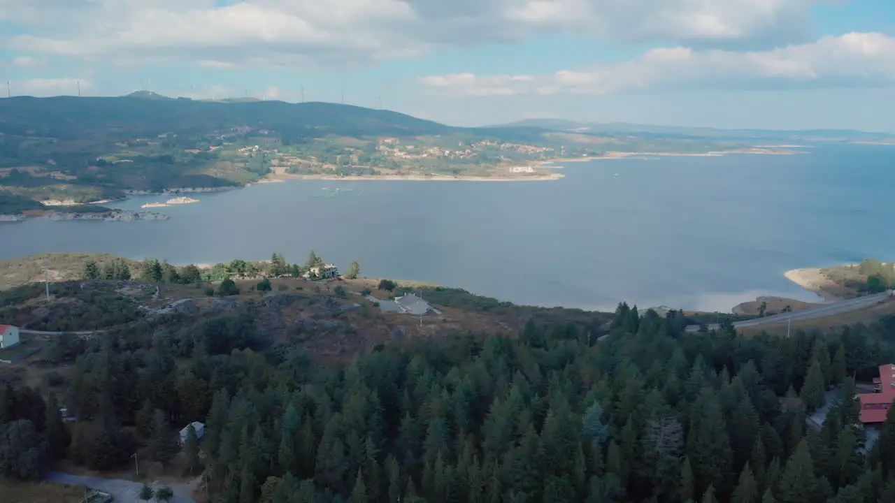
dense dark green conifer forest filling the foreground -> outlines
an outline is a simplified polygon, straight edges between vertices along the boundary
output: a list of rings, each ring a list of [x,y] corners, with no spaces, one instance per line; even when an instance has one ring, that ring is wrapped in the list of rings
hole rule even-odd
[[[238,503],[895,501],[895,409],[867,455],[855,400],[805,425],[827,389],[854,396],[852,376],[891,361],[891,328],[683,328],[622,305],[601,342],[529,323],[380,345],[341,370],[311,364],[303,333],[252,347],[251,313],[72,337],[52,354],[74,362],[77,435],[55,398],[45,413],[37,391],[0,388],[0,474],[37,477],[52,456],[110,470],[139,449]],[[204,438],[178,454],[193,421]]]

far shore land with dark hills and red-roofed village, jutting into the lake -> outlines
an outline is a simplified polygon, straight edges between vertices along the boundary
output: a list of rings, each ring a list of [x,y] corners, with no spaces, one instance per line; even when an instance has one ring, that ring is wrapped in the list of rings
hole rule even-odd
[[[8,98],[0,100],[0,115],[4,144],[16,150],[0,162],[0,190],[39,203],[0,203],[0,214],[15,216],[285,179],[553,181],[562,175],[549,163],[560,159],[792,153],[769,145],[766,135],[739,132],[681,135],[557,122],[468,128],[332,103],[207,102],[157,93]],[[781,145],[801,138],[775,134]]]

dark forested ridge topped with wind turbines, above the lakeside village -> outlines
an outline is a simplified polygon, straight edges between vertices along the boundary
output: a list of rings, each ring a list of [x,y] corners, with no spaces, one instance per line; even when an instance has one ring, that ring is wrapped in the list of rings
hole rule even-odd
[[[90,132],[126,135],[175,132],[204,134],[248,126],[309,136],[335,134],[359,136],[417,136],[447,132],[480,132],[455,128],[389,110],[335,103],[286,103],[283,101],[200,101],[158,95],[116,98],[0,99],[0,132],[27,132],[60,140]],[[487,136],[539,134],[536,128],[481,130]]]

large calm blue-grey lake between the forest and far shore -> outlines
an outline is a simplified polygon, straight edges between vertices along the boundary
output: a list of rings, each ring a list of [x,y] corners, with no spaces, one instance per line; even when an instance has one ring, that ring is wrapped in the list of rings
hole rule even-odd
[[[268,183],[196,196],[167,221],[0,225],[0,260],[109,252],[176,264],[303,262],[515,303],[728,311],[760,294],[813,300],[788,269],[895,258],[895,146],[796,156],[569,163],[555,182]],[[350,189],[330,196],[325,187]],[[162,200],[116,204],[139,209]]]

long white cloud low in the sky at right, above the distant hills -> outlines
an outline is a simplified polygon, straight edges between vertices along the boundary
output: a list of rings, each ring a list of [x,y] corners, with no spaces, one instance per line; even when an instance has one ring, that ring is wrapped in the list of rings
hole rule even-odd
[[[848,33],[810,44],[768,51],[731,52],[687,47],[653,49],[619,64],[547,75],[427,76],[420,83],[467,96],[518,94],[609,94],[700,86],[893,86],[895,38]]]

